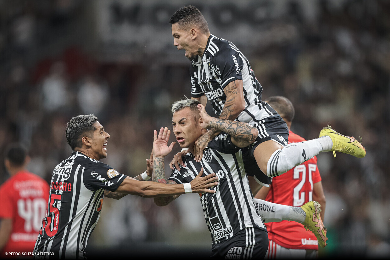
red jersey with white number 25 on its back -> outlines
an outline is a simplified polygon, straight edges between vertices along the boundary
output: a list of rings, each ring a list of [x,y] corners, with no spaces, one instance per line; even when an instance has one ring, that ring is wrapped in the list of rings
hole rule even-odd
[[[289,131],[289,143],[306,141]],[[300,164],[280,176],[272,178],[266,201],[300,207],[312,201],[313,185],[321,181],[317,167],[317,157]],[[295,221],[265,223],[269,240],[273,240],[284,248],[316,249],[316,236],[307,231],[303,224]]]

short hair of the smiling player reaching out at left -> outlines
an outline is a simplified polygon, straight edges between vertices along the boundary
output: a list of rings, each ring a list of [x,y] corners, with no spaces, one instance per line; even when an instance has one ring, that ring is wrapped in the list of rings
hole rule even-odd
[[[82,147],[81,137],[83,135],[89,136],[91,132],[95,131],[96,128],[94,123],[97,121],[97,117],[93,114],[75,116],[66,124],[65,135],[66,141],[74,148]]]

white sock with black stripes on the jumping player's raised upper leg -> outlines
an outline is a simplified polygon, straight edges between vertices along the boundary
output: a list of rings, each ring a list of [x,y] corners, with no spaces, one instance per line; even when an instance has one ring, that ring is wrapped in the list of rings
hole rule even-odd
[[[310,160],[321,151],[325,151],[323,147],[326,150],[330,150],[332,144],[332,139],[329,136],[287,144],[282,149],[276,150],[269,158],[267,175],[269,177],[279,176],[293,169],[295,166]]]

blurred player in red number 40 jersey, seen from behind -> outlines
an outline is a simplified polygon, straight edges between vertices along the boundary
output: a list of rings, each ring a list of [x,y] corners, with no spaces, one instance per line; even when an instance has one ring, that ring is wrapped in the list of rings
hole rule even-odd
[[[32,253],[46,214],[49,184],[27,171],[29,161],[27,150],[20,144],[11,144],[5,153],[10,178],[0,187],[1,256]]]

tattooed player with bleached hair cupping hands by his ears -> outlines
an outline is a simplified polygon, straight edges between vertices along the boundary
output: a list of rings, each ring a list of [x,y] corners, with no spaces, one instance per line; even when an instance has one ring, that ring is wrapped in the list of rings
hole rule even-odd
[[[168,147],[170,130],[167,127],[161,128],[158,135],[155,131],[152,180],[186,185],[202,169],[206,176],[216,173],[218,185],[211,188],[216,192],[200,194],[213,241],[211,257],[263,258],[266,252],[264,246],[268,246],[267,232],[254,204],[240,149],[255,141],[257,129],[243,122],[212,118],[197,100],[178,101],[172,105],[172,112],[176,140],[182,148],[190,147],[190,153],[184,158],[186,166],[172,171],[167,180],[164,157],[172,151],[174,142]],[[209,142],[202,160],[197,162],[193,146],[199,137],[206,134],[208,126],[223,132]],[[165,206],[178,196],[154,198],[154,202]]]

